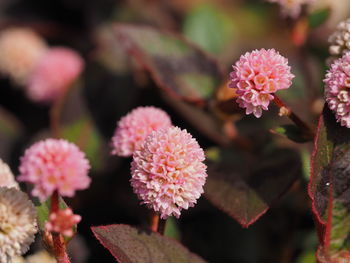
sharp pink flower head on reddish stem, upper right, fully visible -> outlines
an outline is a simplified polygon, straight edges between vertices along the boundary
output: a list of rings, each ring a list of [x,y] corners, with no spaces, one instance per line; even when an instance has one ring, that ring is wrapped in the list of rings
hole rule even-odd
[[[230,74],[230,88],[235,88],[238,105],[260,118],[267,110],[273,93],[288,89],[294,77],[288,60],[274,49],[261,49],[242,55]]]

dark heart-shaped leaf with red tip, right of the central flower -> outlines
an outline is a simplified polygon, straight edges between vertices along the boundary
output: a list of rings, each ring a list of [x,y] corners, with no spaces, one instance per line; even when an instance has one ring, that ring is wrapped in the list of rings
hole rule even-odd
[[[208,163],[205,195],[243,227],[263,215],[301,174],[299,156],[289,149],[259,156],[235,149],[213,155],[216,160]]]

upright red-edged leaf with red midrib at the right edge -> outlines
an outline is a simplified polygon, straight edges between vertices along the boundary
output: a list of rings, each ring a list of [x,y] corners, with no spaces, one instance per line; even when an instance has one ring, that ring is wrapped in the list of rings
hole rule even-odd
[[[318,257],[345,262],[350,254],[350,129],[325,107],[311,159],[309,195],[321,239]],[[346,261],[347,262],[347,261]]]

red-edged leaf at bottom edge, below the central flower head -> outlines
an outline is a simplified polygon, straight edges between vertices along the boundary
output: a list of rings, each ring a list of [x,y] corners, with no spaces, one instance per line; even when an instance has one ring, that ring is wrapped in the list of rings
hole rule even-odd
[[[121,263],[203,263],[177,241],[128,225],[92,227],[95,237]]]

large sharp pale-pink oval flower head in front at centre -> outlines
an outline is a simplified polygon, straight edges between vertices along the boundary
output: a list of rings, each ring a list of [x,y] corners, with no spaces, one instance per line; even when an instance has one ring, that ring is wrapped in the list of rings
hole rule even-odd
[[[159,212],[161,218],[179,217],[203,193],[204,159],[202,148],[186,130],[160,129],[134,152],[130,182],[142,204]]]

